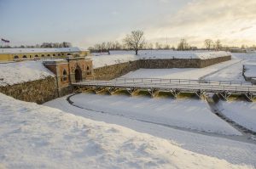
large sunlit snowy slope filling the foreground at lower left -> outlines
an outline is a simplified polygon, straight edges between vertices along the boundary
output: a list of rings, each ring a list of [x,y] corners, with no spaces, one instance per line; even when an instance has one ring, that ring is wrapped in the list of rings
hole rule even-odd
[[[0,166],[6,168],[250,168],[166,139],[0,94]]]

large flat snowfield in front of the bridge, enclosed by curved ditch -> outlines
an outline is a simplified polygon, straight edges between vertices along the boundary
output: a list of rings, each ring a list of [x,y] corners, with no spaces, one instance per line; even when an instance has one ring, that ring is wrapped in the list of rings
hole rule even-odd
[[[163,126],[183,127],[204,132],[241,135],[225,121],[212,114],[207,102],[199,99],[151,99],[81,93],[71,98],[84,109],[121,115],[137,121]],[[128,109],[129,108],[129,109]]]

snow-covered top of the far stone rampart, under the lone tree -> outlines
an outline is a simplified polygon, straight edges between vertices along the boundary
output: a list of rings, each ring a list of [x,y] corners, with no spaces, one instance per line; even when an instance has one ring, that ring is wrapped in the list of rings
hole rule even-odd
[[[136,56],[133,51],[110,51],[109,55],[94,54],[94,68],[115,65],[138,59],[212,59],[231,55],[228,52],[141,50]]]

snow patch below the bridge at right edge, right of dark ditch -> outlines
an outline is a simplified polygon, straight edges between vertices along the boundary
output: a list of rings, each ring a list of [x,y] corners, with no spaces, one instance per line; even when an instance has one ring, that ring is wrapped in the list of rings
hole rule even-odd
[[[244,101],[218,102],[221,112],[242,127],[256,132],[256,104]]]

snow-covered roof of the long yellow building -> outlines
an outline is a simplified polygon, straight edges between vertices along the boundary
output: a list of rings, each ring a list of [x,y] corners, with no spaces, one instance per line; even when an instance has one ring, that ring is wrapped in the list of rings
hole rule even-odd
[[[0,54],[23,54],[23,53],[75,53],[88,51],[83,48],[0,48]]]

